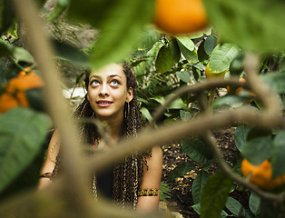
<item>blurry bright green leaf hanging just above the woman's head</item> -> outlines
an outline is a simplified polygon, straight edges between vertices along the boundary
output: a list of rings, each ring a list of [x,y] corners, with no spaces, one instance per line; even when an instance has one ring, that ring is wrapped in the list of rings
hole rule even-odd
[[[91,59],[94,68],[120,62],[130,54],[152,20],[153,6],[152,0],[122,0],[107,6],[110,12],[103,20],[100,35],[93,46]]]

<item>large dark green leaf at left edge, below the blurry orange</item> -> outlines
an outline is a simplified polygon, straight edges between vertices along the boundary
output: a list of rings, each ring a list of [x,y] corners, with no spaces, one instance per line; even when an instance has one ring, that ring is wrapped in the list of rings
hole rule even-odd
[[[34,160],[51,121],[46,114],[15,108],[0,116],[0,192]]]

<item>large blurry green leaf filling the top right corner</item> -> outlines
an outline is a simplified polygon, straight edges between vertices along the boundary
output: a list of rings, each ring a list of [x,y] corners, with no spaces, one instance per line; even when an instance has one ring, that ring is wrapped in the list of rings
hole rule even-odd
[[[204,0],[211,25],[221,40],[245,50],[285,49],[285,3],[278,0]]]

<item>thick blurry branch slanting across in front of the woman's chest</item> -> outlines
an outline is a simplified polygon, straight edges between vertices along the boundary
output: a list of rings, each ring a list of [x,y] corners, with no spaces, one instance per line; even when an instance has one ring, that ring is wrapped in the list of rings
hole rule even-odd
[[[215,130],[231,124],[254,124],[260,127],[284,128],[282,119],[274,119],[251,107],[243,107],[235,110],[227,110],[219,114],[203,114],[189,122],[176,122],[162,125],[157,129],[146,128],[138,138],[124,140],[112,150],[101,154],[93,161],[93,170],[102,171],[111,163],[122,160],[126,155],[135,151],[143,152],[152,146],[167,144],[173,140],[202,134],[207,130]]]

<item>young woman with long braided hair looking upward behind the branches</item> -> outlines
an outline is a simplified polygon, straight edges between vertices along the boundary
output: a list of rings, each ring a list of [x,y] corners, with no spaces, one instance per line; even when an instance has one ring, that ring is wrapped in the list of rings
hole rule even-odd
[[[136,98],[136,80],[128,64],[110,64],[85,77],[87,94],[75,115],[107,124],[113,142],[123,137],[135,137],[143,127],[143,118]],[[84,144],[100,147],[102,138],[94,124],[82,124]],[[39,188],[50,183],[60,171],[58,135],[54,133],[42,169]],[[108,146],[108,144],[105,144]],[[142,212],[158,208],[162,177],[162,150],[153,147],[145,154],[133,154],[113,169],[93,177],[93,195],[97,193],[115,203],[133,206]]]

